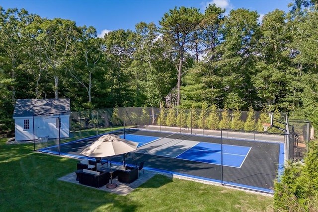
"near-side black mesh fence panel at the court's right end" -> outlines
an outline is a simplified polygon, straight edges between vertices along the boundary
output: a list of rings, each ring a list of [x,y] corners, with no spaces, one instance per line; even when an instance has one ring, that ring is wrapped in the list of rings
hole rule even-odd
[[[221,183],[272,193],[274,180],[283,170],[288,140],[288,134],[222,129]],[[231,152],[233,146],[239,150]]]

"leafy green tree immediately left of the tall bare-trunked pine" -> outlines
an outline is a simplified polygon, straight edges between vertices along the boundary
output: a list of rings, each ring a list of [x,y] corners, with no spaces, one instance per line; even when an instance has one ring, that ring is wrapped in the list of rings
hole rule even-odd
[[[136,37],[133,43],[134,61],[131,69],[134,70],[135,99],[139,105],[162,107],[160,103],[173,88],[175,71],[171,66],[170,51],[159,35],[154,23],[136,24]],[[162,82],[165,83],[162,83]]]

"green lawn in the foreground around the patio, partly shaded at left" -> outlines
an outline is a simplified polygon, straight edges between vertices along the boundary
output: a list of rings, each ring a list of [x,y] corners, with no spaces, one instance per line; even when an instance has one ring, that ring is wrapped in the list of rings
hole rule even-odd
[[[33,151],[33,143],[0,139],[0,211],[67,212],[262,212],[273,198],[223,186],[156,175],[127,196],[58,180],[75,159]]]

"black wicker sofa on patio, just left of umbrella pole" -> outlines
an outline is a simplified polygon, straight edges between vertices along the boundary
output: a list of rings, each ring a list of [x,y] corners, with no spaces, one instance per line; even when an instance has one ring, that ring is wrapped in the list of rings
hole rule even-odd
[[[102,187],[109,182],[110,173],[105,172],[97,172],[88,169],[83,169],[82,172],[77,173],[79,176],[79,184],[83,184],[86,186],[92,186],[95,188]]]

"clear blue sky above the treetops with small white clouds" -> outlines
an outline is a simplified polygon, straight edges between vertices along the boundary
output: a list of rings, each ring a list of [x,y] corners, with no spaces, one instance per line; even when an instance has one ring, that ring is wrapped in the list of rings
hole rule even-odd
[[[232,9],[245,8],[257,11],[261,16],[276,8],[288,11],[288,3],[293,0],[0,0],[0,6],[24,8],[49,19],[63,18],[73,20],[78,26],[93,26],[98,34],[116,30],[135,30],[141,21],[158,21],[165,12],[175,6],[196,7],[204,12],[209,3]]]

